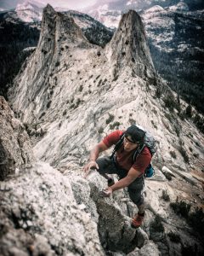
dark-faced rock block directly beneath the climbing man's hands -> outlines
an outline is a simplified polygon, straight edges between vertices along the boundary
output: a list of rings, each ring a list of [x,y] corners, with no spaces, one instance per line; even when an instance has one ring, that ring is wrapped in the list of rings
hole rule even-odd
[[[142,247],[148,239],[144,230],[131,227],[131,218],[124,215],[121,207],[114,201],[113,196],[103,198],[99,192],[107,186],[105,178],[98,172],[88,176],[91,188],[91,198],[94,200],[99,213],[99,236],[103,247],[110,251],[130,253],[135,247]],[[114,192],[114,194],[116,194]],[[120,193],[120,192],[119,192]]]

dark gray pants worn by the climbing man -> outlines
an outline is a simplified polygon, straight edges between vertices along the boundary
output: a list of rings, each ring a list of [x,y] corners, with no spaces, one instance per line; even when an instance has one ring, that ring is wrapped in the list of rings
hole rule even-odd
[[[98,172],[100,174],[117,174],[120,179],[127,176],[127,171],[118,167],[114,160],[111,160],[109,157],[101,157],[96,160],[99,165]],[[129,197],[135,205],[138,207],[144,203],[144,196],[142,190],[144,189],[144,177],[137,177],[133,183],[130,183],[128,186]]]

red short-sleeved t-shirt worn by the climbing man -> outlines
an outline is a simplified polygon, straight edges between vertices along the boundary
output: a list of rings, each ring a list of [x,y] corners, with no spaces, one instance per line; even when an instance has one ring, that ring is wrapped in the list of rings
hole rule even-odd
[[[122,133],[123,131],[120,130],[111,132],[111,134],[103,139],[103,143],[105,143],[105,145],[110,148],[113,144],[116,144],[119,141]],[[127,171],[129,171],[130,168],[133,167],[133,169],[137,170],[138,172],[144,173],[146,167],[149,166],[151,160],[149,148],[144,147],[143,151],[139,154],[135,162],[133,162],[133,154],[135,149],[130,152],[126,152],[123,149],[124,148],[122,145],[122,147],[116,152],[116,160],[118,166],[122,167]]]

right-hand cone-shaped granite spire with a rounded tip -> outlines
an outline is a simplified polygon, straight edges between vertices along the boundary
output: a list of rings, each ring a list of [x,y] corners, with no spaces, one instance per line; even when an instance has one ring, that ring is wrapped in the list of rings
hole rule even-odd
[[[133,75],[142,79],[154,79],[155,68],[140,16],[133,10],[122,15],[122,20],[109,45],[110,61],[114,78],[125,67],[130,67]]]

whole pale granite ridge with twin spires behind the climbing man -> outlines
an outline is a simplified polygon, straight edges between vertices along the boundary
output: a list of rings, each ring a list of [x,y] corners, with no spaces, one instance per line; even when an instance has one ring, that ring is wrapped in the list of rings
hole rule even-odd
[[[9,91],[9,101],[15,113],[32,134],[32,138],[37,136],[37,140],[34,141],[34,153],[37,159],[50,163],[65,176],[70,177],[74,183],[72,190],[74,194],[76,193],[77,204],[84,202],[83,209],[92,212],[92,218],[96,222],[97,206],[94,207],[93,201],[96,205],[99,203],[98,212],[102,212],[99,214],[98,227],[110,224],[110,219],[106,219],[110,214],[106,215],[103,211],[105,211],[105,207],[110,209],[108,205],[111,199],[108,199],[110,201],[104,205],[105,201],[94,198],[94,195],[97,195],[96,190],[94,190],[93,201],[82,196],[87,195],[87,190],[86,193],[77,194],[78,190],[84,189],[86,186],[85,184],[81,185],[85,183],[84,179],[81,179],[82,172],[78,177],[79,182],[76,183],[77,177],[73,171],[80,170],[80,166],[88,157],[90,148],[111,130],[117,127],[125,129],[134,120],[140,125],[148,127],[148,130],[156,137],[158,152],[154,164],[157,167],[158,177],[156,181],[147,181],[145,193],[147,218],[143,229],[149,238],[155,239],[163,255],[168,255],[169,252],[172,254],[176,252],[178,255],[181,253],[181,246],[174,247],[173,242],[167,239],[167,233],[170,230],[179,233],[183,245],[193,245],[192,241],[195,241],[201,250],[199,239],[193,237],[190,230],[184,230],[188,232],[188,236],[184,236],[182,230],[184,223],[179,221],[175,223],[173,212],[168,211],[169,203],[161,201],[161,193],[167,191],[171,200],[185,197],[193,203],[196,198],[196,205],[201,204],[200,198],[192,189],[192,184],[184,181],[179,172],[182,170],[186,176],[188,174],[196,188],[196,194],[202,195],[201,184],[192,177],[191,173],[196,170],[201,175],[203,137],[193,124],[179,119],[176,110],[170,112],[165,108],[164,97],[168,97],[169,94],[172,96],[173,93],[166,84],[162,84],[161,79],[154,73],[144,39],[141,41],[142,44],[139,44],[139,41],[135,40],[137,37],[134,37],[135,41],[133,42],[137,41],[137,47],[141,49],[141,52],[144,51],[145,60],[140,57],[141,55],[131,52],[131,50],[138,49],[136,47],[128,46],[127,55],[123,56],[120,50],[116,50],[116,42],[121,44],[116,40],[121,37],[124,42],[124,38],[131,34],[128,32],[128,27],[126,31],[124,30],[124,24],[127,22],[131,31],[130,20],[139,20],[139,16],[135,12],[125,15],[123,23],[118,27],[111,43],[102,49],[88,43],[80,28],[71,18],[55,13],[54,9],[48,6],[44,9],[42,33],[37,49],[26,61],[26,68],[22,69],[15,79],[14,87]],[[66,29],[67,27],[69,30]],[[138,31],[137,36],[144,38],[142,28]],[[140,57],[139,64],[137,63],[138,59],[135,62],[130,62],[132,55],[138,59]],[[116,62],[117,72],[115,72],[112,60],[116,60],[117,56],[122,64]],[[139,68],[139,65],[144,68]],[[144,80],[145,69],[146,73],[150,73],[150,77],[152,74],[155,75],[154,81]],[[137,73],[134,73],[135,70]],[[158,89],[161,90],[161,98],[156,97]],[[189,155],[190,164],[184,162],[180,147],[184,148],[186,154]],[[194,154],[200,155],[200,159],[191,153],[190,148]],[[170,154],[170,152],[174,152],[174,154]],[[162,171],[162,166],[167,166],[172,171],[178,171],[178,173],[174,173],[173,182],[168,183],[159,171],[159,169]],[[99,184],[98,182],[97,185],[91,184],[94,183],[95,178],[101,180],[96,173],[89,178],[89,185],[92,189],[101,189],[105,185],[105,183]],[[116,201],[119,199],[122,214],[131,217],[136,209],[128,200],[127,195],[121,193],[125,192],[118,191],[114,195],[114,199]],[[120,198],[123,199],[120,200]],[[115,211],[118,212],[119,217],[122,216],[118,207]],[[150,229],[150,219],[156,213],[161,216],[165,225],[165,232],[157,235]],[[105,217],[103,218],[103,216]],[[112,214],[111,216],[116,215]],[[127,218],[122,217],[122,219],[124,220],[122,225],[126,224]],[[111,221],[114,222],[115,218],[111,218]],[[131,238],[129,242],[136,237],[133,230],[129,230],[126,225],[121,226],[121,222],[118,227],[119,230],[127,228],[127,232],[122,237],[126,243],[127,236]],[[106,251],[111,249],[119,252],[121,248],[123,253],[129,253],[127,248],[122,247],[118,238],[114,236],[114,234],[120,234],[120,231],[115,230],[113,234],[110,230],[102,228],[99,230],[100,241]],[[143,233],[143,231],[141,232]],[[108,240],[107,237],[109,237]],[[158,254],[156,245],[148,240],[144,242],[145,236],[142,237],[140,243],[135,243],[134,246],[142,247],[144,245],[145,248],[146,245],[149,248],[147,250],[153,248],[154,252]],[[131,248],[133,249],[133,247]],[[142,252],[138,253],[140,255]]]

